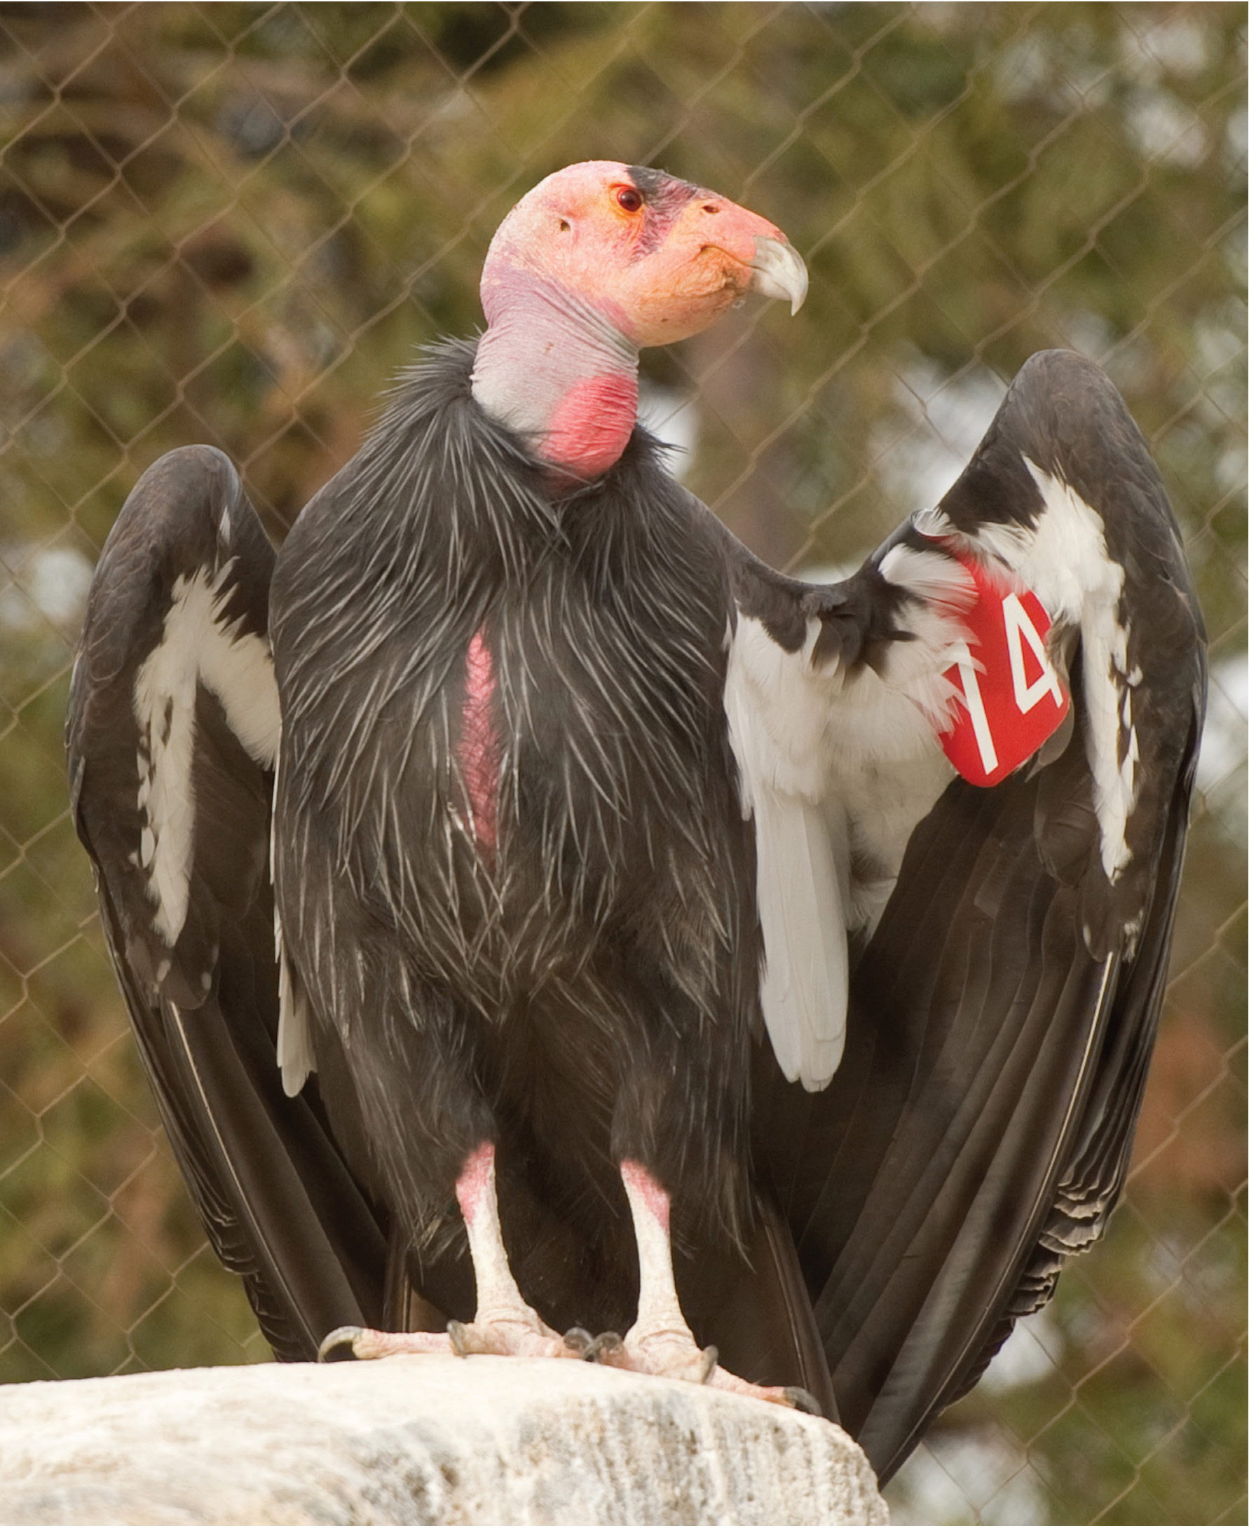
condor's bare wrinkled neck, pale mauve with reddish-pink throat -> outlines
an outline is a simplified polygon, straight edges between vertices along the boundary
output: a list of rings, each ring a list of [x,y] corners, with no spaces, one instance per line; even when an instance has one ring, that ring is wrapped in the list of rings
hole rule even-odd
[[[637,350],[555,283],[506,267],[483,284],[489,329],[472,396],[570,480],[605,472],[637,422]]]

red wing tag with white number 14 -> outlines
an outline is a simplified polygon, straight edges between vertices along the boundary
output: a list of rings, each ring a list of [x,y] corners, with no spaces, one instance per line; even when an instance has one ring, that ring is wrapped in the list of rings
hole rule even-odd
[[[954,555],[972,576],[977,601],[963,614],[969,656],[946,669],[963,704],[942,747],[963,779],[997,785],[1058,730],[1072,698],[1046,652],[1050,619],[1041,601]]]

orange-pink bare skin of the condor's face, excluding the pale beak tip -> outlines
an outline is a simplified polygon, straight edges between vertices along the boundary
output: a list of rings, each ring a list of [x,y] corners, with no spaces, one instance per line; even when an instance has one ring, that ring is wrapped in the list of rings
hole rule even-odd
[[[486,315],[504,272],[532,272],[610,316],[639,350],[668,345],[708,329],[745,295],[755,238],[784,240],[774,223],[712,191],[696,189],[662,237],[657,215],[624,163],[595,160],[549,176],[491,243]]]

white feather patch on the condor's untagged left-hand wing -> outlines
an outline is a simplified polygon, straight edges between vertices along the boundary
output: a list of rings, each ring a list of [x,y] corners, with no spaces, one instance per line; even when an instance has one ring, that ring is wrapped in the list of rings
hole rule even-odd
[[[148,872],[153,926],[170,949],[187,923],[191,891],[197,686],[220,700],[231,730],[258,764],[271,766],[277,752],[269,643],[223,617],[228,575],[229,564],[216,576],[200,570],[177,579],[161,642],[135,675],[139,863]]]

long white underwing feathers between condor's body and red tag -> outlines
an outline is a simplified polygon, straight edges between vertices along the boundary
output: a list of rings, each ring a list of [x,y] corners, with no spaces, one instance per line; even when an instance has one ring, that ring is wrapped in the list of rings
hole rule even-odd
[[[755,824],[763,1018],[786,1077],[812,1091],[841,1060],[847,929],[874,924],[911,830],[952,778],[936,732],[968,579],[949,567],[922,552],[891,561],[894,581],[916,591],[905,623],[919,640],[896,643],[884,674],[816,663],[818,620],[786,652],[738,613],[729,646],[725,712]]]

